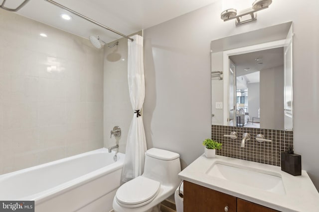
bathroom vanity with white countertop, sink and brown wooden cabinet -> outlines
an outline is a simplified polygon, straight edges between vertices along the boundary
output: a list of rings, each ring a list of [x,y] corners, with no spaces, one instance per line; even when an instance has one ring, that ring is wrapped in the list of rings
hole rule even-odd
[[[198,157],[178,174],[184,212],[317,212],[319,193],[306,171],[216,155]]]

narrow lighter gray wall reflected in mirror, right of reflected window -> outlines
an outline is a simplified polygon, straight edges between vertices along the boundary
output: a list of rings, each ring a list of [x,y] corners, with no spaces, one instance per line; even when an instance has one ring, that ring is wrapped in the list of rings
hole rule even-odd
[[[259,82],[248,83],[247,87],[248,87],[248,113],[250,118],[249,121],[253,121],[253,117],[258,117],[258,109],[260,107]],[[269,129],[275,129],[275,128],[269,128]]]

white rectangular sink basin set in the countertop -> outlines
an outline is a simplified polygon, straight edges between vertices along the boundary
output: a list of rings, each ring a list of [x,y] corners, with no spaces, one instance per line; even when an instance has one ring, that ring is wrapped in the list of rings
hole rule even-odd
[[[260,190],[286,194],[281,175],[276,172],[216,161],[206,174]]]

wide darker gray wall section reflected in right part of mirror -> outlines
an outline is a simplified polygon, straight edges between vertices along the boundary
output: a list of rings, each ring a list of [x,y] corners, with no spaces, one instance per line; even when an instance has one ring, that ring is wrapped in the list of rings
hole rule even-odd
[[[260,71],[260,128],[284,130],[284,66]]]

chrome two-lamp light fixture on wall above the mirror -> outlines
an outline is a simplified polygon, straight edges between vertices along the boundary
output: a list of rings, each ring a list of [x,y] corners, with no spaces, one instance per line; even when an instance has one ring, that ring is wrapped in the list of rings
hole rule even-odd
[[[243,9],[237,13],[237,9],[229,8],[220,14],[224,21],[236,19],[236,25],[257,20],[257,11],[266,9],[272,3],[272,0],[255,0],[251,8]]]

